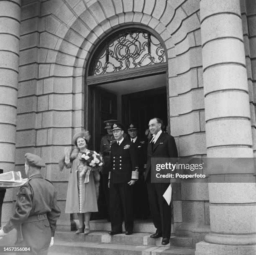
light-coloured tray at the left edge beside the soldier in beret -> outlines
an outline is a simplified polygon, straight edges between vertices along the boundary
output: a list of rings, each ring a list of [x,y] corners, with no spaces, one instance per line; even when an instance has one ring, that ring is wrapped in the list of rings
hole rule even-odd
[[[0,173],[0,188],[9,189],[19,187],[26,183],[26,179],[21,178],[20,171],[14,172],[10,171],[7,173]]]

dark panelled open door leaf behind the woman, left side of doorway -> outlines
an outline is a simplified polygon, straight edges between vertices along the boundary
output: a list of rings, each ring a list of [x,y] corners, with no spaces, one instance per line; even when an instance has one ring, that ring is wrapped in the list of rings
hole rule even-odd
[[[88,130],[92,135],[89,147],[99,152],[101,138],[107,134],[104,121],[117,118],[117,96],[97,86],[89,88]]]

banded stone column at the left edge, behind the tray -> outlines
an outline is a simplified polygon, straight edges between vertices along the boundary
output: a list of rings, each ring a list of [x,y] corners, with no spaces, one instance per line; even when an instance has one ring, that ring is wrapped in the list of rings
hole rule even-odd
[[[0,1],[0,168],[15,170],[20,0]]]

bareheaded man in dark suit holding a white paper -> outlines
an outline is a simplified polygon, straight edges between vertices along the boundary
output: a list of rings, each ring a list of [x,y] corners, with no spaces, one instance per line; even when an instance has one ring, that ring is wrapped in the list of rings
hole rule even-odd
[[[169,183],[151,183],[151,158],[177,158],[178,153],[174,138],[162,132],[162,126],[163,122],[159,118],[151,119],[148,123],[153,137],[148,142],[145,181],[148,188],[151,215],[156,227],[156,233],[150,237],[163,237],[162,245],[167,245],[171,236],[172,201],[168,205],[163,194]]]

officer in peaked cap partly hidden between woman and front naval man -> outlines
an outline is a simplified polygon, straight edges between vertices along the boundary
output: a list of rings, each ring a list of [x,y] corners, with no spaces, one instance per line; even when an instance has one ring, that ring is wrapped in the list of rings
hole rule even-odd
[[[104,159],[104,166],[103,166],[103,171],[102,171],[102,182],[103,182],[103,190],[105,194],[105,200],[107,204],[107,209],[108,209],[108,215],[107,215],[107,220],[110,222],[110,205],[109,205],[109,189],[108,189],[108,172],[110,171],[110,147],[111,144],[115,141],[115,138],[113,136],[113,132],[111,130],[111,125],[115,122],[118,122],[117,120],[106,120],[104,123],[106,126],[104,127],[108,134],[104,135],[101,138],[101,143],[100,143],[100,153],[103,156]]]

